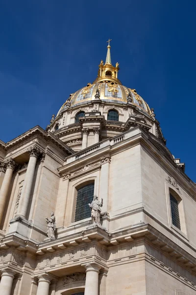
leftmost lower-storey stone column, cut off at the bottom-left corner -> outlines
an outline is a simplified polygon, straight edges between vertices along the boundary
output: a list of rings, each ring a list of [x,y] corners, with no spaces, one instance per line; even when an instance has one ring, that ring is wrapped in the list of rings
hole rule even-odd
[[[0,294],[10,295],[15,271],[9,269],[1,270]]]

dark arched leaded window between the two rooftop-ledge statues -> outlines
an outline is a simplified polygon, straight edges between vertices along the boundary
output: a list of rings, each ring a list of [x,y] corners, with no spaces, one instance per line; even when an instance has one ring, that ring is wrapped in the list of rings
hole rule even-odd
[[[75,221],[91,217],[89,203],[93,201],[94,182],[87,184],[77,190],[77,200],[75,208]]]

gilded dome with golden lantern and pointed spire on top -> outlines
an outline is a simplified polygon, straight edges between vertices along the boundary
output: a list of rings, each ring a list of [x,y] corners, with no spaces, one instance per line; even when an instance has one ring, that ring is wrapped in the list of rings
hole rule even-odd
[[[109,39],[109,41],[111,41]],[[107,42],[109,42],[107,41]],[[69,103],[74,107],[91,100],[96,100],[96,91],[99,91],[99,99],[112,103],[126,104],[127,97],[131,94],[132,104],[139,107],[141,110],[150,114],[150,109],[143,98],[136,92],[135,89],[130,89],[122,85],[118,79],[119,63],[113,66],[111,63],[110,44],[107,46],[107,56],[105,64],[101,60],[98,69],[98,77],[93,84],[88,83],[87,86],[79,89],[70,95]],[[57,116],[67,107],[67,102],[60,108]]]

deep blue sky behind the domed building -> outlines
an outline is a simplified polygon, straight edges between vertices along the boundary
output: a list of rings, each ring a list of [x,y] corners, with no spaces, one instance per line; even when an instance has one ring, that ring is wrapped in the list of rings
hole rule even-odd
[[[96,78],[111,38],[119,79],[154,108],[167,147],[196,181],[195,11],[192,0],[1,1],[0,139],[45,129]]]

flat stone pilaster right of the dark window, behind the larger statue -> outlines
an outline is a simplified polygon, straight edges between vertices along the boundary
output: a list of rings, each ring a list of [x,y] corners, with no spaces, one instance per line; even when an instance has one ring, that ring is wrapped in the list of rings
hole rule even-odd
[[[109,154],[100,158],[101,171],[99,181],[101,185],[99,188],[99,196],[103,198],[102,212],[108,212],[110,161],[111,156]]]

